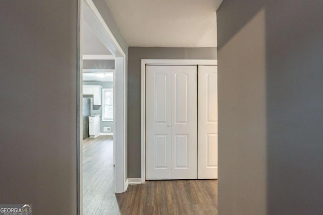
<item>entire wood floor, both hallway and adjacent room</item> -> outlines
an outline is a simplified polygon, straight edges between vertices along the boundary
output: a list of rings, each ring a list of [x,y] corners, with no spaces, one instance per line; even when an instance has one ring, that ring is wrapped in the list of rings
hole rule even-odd
[[[83,214],[218,214],[218,180],[147,181],[114,193],[113,141],[83,143]]]

